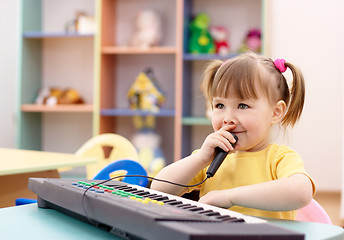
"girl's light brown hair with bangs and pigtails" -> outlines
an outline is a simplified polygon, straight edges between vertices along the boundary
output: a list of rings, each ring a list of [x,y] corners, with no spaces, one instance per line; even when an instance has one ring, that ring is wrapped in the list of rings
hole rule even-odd
[[[303,110],[305,83],[296,66],[289,62],[285,66],[293,74],[291,89],[270,58],[245,53],[225,62],[213,60],[204,71],[202,91],[211,104],[214,97],[228,97],[230,94],[239,99],[258,99],[258,90],[262,90],[270,104],[280,100],[286,103],[287,111],[281,125],[293,127]]]

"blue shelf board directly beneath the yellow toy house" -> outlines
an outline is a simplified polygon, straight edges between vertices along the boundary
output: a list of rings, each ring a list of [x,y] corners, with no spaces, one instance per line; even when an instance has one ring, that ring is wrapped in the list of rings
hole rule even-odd
[[[153,115],[157,117],[174,117],[175,111],[173,109],[160,109],[159,112],[149,112],[141,110],[131,110],[131,109],[118,109],[118,108],[109,108],[102,109],[100,111],[102,116],[148,116]]]

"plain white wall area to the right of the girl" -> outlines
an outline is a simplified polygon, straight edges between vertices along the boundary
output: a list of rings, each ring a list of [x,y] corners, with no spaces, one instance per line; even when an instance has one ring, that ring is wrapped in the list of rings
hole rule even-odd
[[[275,0],[269,4],[269,54],[298,65],[306,80],[304,113],[287,141],[304,158],[318,190],[340,191],[344,2]]]

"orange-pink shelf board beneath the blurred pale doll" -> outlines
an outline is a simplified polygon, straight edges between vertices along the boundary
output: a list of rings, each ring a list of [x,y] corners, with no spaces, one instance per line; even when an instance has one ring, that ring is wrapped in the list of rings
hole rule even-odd
[[[117,46],[103,46],[103,54],[175,54],[177,52],[176,47],[150,47],[150,48],[138,48],[138,47],[117,47]]]

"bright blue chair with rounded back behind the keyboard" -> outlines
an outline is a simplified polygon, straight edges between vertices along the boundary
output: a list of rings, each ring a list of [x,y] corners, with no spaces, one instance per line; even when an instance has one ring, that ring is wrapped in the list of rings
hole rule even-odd
[[[124,175],[142,175],[147,176],[146,170],[142,167],[139,162],[129,159],[121,159],[114,161],[104,167],[98,174],[93,178],[94,180],[107,180],[111,178],[111,174],[116,171],[125,171]],[[139,185],[146,187],[148,184],[148,178],[145,177],[124,177],[123,182]],[[36,203],[35,199],[28,198],[17,198],[15,201],[16,206]]]

